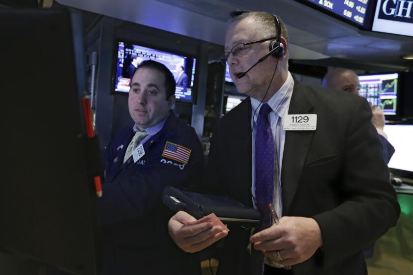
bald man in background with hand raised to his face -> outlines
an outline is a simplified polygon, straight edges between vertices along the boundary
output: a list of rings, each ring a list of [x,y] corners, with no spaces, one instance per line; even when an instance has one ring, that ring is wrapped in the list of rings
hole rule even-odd
[[[323,78],[322,86],[359,96],[360,82],[358,76],[352,70],[335,68],[329,71]],[[379,133],[380,141],[383,144],[384,160],[388,164],[391,156],[394,154],[394,147],[388,142],[387,135],[384,133],[385,120],[383,110],[378,108],[378,106],[371,106],[371,110],[373,113],[371,123],[373,123],[377,133]]]

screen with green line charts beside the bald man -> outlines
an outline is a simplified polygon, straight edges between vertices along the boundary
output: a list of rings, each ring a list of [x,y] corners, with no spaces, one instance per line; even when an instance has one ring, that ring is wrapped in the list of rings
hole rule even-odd
[[[395,115],[399,74],[365,75],[358,77],[360,95],[379,106],[385,115]]]

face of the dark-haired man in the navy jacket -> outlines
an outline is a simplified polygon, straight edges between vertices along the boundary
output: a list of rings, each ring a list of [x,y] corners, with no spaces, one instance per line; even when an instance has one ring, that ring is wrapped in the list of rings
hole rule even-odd
[[[166,100],[165,76],[157,70],[140,68],[132,78],[129,90],[129,113],[140,130],[163,120],[175,97]]]

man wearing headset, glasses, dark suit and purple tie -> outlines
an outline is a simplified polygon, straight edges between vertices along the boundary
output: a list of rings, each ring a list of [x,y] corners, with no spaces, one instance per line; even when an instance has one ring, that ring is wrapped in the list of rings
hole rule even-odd
[[[257,208],[262,220],[253,231],[227,232],[186,225],[195,218],[181,211],[169,221],[172,239],[196,252],[225,237],[218,274],[367,274],[361,249],[400,214],[370,107],[295,81],[287,30],[273,15],[236,16],[225,51],[237,90],[249,97],[217,124],[206,187]]]

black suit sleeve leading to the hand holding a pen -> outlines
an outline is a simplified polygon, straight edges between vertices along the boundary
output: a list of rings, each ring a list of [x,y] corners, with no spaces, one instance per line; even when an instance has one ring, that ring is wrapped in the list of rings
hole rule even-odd
[[[400,215],[380,140],[370,123],[371,110],[360,100],[353,113],[345,141],[342,180],[337,186],[344,202],[313,217],[322,231],[326,266],[378,239]]]

